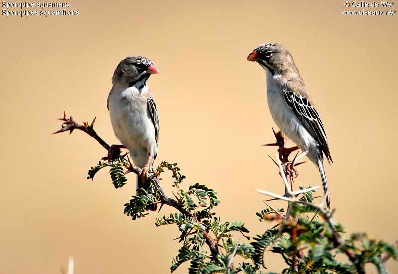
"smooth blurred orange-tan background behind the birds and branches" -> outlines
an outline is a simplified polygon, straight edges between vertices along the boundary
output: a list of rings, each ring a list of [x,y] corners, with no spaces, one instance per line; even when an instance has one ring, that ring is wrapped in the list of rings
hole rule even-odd
[[[396,16],[342,16],[342,0],[70,5],[79,16],[0,18],[0,273],[60,273],[69,256],[76,274],[170,272],[179,232],[153,223],[174,211],[131,221],[123,204],[134,193],[134,175],[120,190],[106,171],[86,180],[106,151],[82,132],[50,135],[65,110],[78,121],[97,116],[100,136],[118,143],[106,99],[127,55],[146,56],[160,70],[149,79],[161,124],[155,165],[179,163],[183,187],[199,182],[219,192],[223,221],[244,221],[251,236],[264,232],[255,212],[266,197],[254,189],[283,187],[267,156],[274,148],[261,146],[273,141],[275,127],[265,73],[246,56],[270,41],[291,51],[323,118],[337,221],[350,233],[398,239]],[[312,164],[299,172],[296,187],[320,185]],[[274,255],[265,262],[282,270]],[[387,266],[398,272],[396,262]]]

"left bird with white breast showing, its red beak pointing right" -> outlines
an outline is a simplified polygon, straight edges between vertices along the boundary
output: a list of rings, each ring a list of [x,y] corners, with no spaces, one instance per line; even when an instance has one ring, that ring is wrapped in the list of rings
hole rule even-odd
[[[134,165],[142,169],[137,175],[137,189],[148,187],[144,185],[148,171],[158,155],[159,116],[147,82],[157,73],[159,70],[150,59],[126,57],[113,73],[107,99],[113,132],[128,149]],[[156,210],[156,204],[149,209]]]

